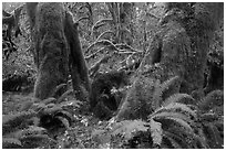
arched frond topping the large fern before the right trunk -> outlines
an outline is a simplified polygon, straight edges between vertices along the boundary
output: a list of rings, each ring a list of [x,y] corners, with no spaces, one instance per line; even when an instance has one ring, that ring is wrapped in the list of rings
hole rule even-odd
[[[172,96],[170,96],[168,98],[166,98],[164,100],[164,103],[162,104],[163,107],[168,106],[172,103],[182,103],[182,104],[194,104],[195,99],[187,94],[174,94]]]

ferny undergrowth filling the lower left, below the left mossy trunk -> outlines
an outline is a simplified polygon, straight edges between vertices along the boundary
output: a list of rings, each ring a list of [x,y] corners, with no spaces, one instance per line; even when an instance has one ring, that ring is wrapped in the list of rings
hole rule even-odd
[[[55,89],[55,94],[59,89]],[[53,94],[55,96],[55,94]],[[82,105],[69,89],[60,97],[24,103],[19,114],[2,116],[3,148],[54,148],[54,134],[69,129]]]

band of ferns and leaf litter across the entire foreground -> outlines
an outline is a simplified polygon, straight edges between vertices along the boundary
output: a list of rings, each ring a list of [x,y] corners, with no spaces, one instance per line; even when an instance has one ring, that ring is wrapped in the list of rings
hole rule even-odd
[[[3,115],[3,148],[222,149],[224,93],[214,90],[201,101],[187,94],[168,95],[176,79],[156,83],[146,120],[91,122],[92,115],[78,117],[84,103],[71,89],[25,103],[21,112]]]

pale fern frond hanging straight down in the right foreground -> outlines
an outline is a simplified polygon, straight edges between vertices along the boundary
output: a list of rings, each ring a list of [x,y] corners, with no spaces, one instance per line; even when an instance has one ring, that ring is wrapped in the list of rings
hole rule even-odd
[[[163,129],[162,129],[162,123],[161,122],[156,122],[153,119],[151,119],[150,121],[150,130],[151,130],[151,136],[152,136],[152,140],[153,140],[153,145],[162,144],[162,140],[163,140]]]

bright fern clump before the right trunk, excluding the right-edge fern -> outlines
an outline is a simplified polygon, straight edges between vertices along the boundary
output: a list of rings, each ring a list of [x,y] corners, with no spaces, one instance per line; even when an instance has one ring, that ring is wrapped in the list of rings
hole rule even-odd
[[[171,91],[176,91],[174,88],[178,80],[178,77],[162,84],[157,80],[151,101],[153,112],[147,120],[112,122],[109,140],[116,137],[119,142],[112,144],[113,141],[104,138],[104,143],[110,143],[110,148],[119,143],[121,147],[117,148],[208,148],[204,134],[198,132],[194,98],[187,94],[171,95]],[[103,137],[103,133],[99,136]]]

